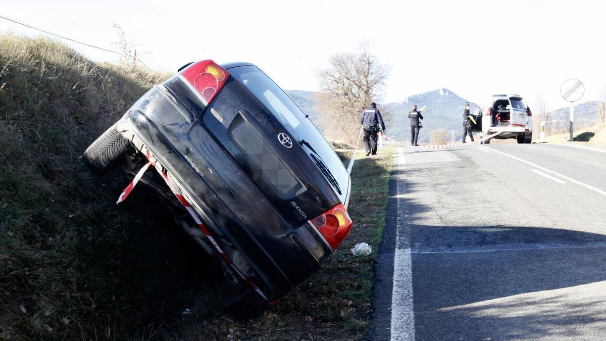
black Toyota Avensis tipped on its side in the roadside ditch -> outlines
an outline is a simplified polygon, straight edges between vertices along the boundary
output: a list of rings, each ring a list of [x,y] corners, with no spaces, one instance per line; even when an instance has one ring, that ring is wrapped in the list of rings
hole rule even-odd
[[[185,65],[93,142],[84,160],[96,175],[120,164],[136,175],[119,201],[137,181],[155,189],[225,266],[238,288],[233,302],[255,291],[270,303],[284,297],[351,229],[350,177],[338,155],[250,63]]]

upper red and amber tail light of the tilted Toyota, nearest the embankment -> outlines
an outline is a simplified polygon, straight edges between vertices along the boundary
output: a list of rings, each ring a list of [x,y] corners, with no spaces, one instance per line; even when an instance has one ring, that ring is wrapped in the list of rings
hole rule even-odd
[[[210,103],[230,74],[211,59],[205,59],[186,67],[181,75]]]

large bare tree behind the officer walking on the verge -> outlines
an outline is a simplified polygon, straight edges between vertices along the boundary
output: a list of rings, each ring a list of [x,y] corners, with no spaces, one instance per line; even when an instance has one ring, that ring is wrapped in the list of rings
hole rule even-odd
[[[328,62],[330,67],[318,73],[321,91],[316,108],[324,126],[330,127],[329,135],[337,129],[339,137],[351,142],[358,137],[361,110],[378,101],[391,68],[379,62],[368,41],[355,52],[332,55]]]

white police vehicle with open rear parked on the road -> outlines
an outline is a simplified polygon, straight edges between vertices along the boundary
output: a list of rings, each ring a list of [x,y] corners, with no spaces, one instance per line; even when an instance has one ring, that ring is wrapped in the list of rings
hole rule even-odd
[[[520,95],[493,95],[490,103],[474,112],[479,120],[476,131],[480,130],[484,136],[501,132],[494,138],[515,138],[518,143],[531,143],[532,141],[532,112]],[[490,140],[484,141],[490,143]]]

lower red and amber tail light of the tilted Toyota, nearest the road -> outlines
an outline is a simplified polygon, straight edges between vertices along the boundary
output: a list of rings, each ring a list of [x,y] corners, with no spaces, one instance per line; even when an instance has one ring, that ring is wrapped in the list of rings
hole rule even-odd
[[[351,229],[351,219],[343,204],[329,209],[311,220],[331,248],[336,249]]]

